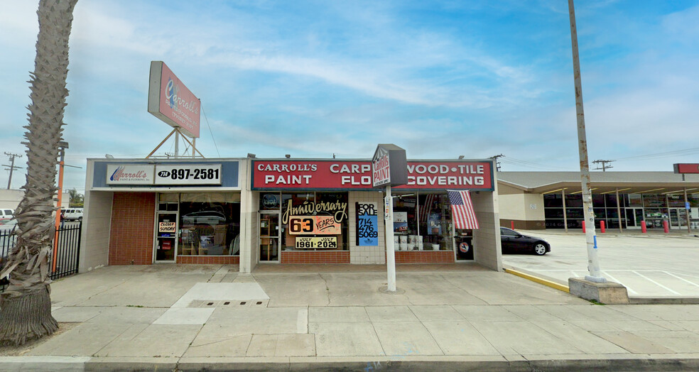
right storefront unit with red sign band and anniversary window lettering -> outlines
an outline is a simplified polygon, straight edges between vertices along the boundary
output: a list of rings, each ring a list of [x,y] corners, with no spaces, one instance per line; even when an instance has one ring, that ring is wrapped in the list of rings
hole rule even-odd
[[[408,184],[392,189],[393,226],[368,159],[252,159],[250,169],[253,263],[384,264],[388,227],[396,263],[501,267],[491,160],[408,160]],[[479,229],[454,229],[446,190],[470,190]]]

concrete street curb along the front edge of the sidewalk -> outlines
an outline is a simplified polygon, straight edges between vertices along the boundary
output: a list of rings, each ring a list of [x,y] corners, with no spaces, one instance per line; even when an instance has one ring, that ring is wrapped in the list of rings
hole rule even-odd
[[[692,355],[694,356],[694,355]],[[253,358],[90,358],[0,357],[3,371],[697,371],[699,356],[666,358],[620,354],[593,359],[506,360],[504,356],[425,356],[391,360],[386,356]],[[408,360],[412,359],[412,360]],[[521,356],[520,356],[521,358]],[[65,363],[56,359],[66,359]],[[72,359],[69,361],[67,359]],[[383,359],[383,360],[381,360]]]

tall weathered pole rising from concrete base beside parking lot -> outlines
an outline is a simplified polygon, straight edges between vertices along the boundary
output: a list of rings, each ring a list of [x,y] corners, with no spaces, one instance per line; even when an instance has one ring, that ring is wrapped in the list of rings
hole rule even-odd
[[[583,110],[583,83],[580,78],[580,57],[578,55],[578,32],[575,29],[575,8],[573,0],[568,0],[570,11],[570,40],[573,44],[573,77],[575,79],[575,112],[578,116],[578,149],[580,151],[580,183],[583,187],[583,214],[585,216],[585,241],[587,242],[587,271],[585,279],[604,283],[600,259],[597,257],[597,235],[595,234],[595,214],[592,213],[592,190],[590,190],[590,165],[587,163],[587,138],[585,136],[585,113]]]

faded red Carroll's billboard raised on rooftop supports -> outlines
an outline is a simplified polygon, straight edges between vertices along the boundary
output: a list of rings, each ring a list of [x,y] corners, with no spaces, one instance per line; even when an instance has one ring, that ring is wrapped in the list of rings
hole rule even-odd
[[[162,61],[151,61],[148,112],[185,135],[199,138],[200,100]]]

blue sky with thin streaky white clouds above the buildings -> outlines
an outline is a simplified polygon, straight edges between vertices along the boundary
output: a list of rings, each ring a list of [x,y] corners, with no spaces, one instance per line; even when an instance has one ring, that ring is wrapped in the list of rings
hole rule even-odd
[[[575,7],[590,161],[699,163],[699,0]],[[26,182],[37,8],[0,0],[0,164],[22,155],[13,189]],[[201,99],[206,158],[370,158],[395,143],[413,159],[580,170],[564,0],[80,0],[74,16],[66,190],[85,190],[87,158],[145,158],[172,130],[147,111],[152,60]]]

